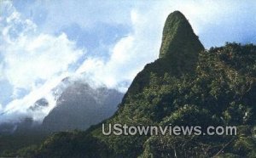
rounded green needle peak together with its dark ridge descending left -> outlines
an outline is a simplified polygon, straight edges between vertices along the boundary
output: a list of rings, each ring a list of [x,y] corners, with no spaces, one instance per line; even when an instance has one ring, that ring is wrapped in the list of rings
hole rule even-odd
[[[182,76],[195,72],[198,54],[203,50],[203,45],[185,16],[179,11],[169,14],[163,31],[160,58],[146,65],[137,74],[123,102],[127,96],[142,92],[149,85],[152,73],[157,76],[164,76],[166,73]]]

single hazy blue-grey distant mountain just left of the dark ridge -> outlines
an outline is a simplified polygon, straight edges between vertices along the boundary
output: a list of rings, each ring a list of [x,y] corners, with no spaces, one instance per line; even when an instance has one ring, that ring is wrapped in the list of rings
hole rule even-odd
[[[49,131],[86,129],[112,116],[122,98],[117,90],[74,82],[61,93],[42,126]]]

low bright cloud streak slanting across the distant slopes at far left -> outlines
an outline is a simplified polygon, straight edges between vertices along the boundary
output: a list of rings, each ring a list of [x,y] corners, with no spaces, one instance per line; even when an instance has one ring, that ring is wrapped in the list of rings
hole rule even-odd
[[[42,121],[44,116],[49,113],[55,107],[55,96],[51,92],[53,87],[56,87],[63,78],[67,77],[67,74],[62,74],[61,76],[55,76],[53,79],[48,80],[43,86],[38,87],[28,93],[22,99],[14,99],[10,102],[3,110],[6,112],[3,118],[0,116],[0,123],[4,121],[20,121],[22,117],[32,117],[35,121]],[[41,110],[29,110],[29,108],[38,99],[47,99],[49,106]]]

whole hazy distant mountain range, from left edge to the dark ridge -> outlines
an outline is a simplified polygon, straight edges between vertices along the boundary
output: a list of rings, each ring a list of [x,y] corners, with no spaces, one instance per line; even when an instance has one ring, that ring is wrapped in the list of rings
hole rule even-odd
[[[51,93],[57,104],[43,123],[24,117],[19,122],[0,125],[0,156],[12,156],[7,153],[38,144],[52,132],[87,129],[112,116],[124,95],[107,87],[92,88],[88,83],[71,82],[69,78],[63,79]],[[38,112],[48,107],[49,101],[43,98],[28,110]]]

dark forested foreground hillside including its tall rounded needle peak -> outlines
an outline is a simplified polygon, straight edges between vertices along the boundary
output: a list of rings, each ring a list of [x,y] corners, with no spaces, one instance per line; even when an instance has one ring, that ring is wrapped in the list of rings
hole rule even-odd
[[[255,157],[256,46],[204,50],[180,12],[166,20],[160,58],[146,65],[119,110],[102,123],[128,126],[236,126],[237,135],[55,133],[28,157]]]

